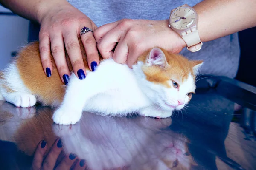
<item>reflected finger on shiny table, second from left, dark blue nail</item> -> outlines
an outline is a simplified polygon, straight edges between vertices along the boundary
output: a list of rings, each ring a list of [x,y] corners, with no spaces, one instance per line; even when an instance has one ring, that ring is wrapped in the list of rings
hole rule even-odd
[[[52,145],[51,150],[47,154],[44,163],[43,169],[44,170],[52,170],[56,164],[56,160],[61,153],[62,150],[62,142],[61,139],[57,139],[54,144]]]

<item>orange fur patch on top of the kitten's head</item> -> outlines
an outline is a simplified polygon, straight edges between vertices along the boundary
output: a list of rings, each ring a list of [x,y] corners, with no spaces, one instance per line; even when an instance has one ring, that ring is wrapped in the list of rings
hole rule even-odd
[[[177,83],[182,83],[189,77],[189,74],[192,76],[194,75],[193,66],[198,63],[197,61],[192,62],[179,54],[172,54],[162,48],[160,49],[163,51],[168,65],[165,68],[161,68],[156,65],[149,67],[147,65],[143,65],[142,69],[148,81],[160,83],[170,88],[172,86],[170,86],[167,81],[174,80],[177,81]],[[148,50],[143,53],[143,55],[139,57],[138,61],[146,63],[148,55],[150,55],[150,51],[151,50]]]

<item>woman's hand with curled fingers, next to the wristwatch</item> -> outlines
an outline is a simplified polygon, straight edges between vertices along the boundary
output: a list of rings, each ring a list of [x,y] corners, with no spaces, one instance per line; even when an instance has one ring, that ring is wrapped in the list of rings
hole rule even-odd
[[[94,37],[103,58],[113,57],[130,68],[149,48],[158,46],[179,53],[186,46],[184,40],[168,27],[168,20],[119,20],[97,28]]]

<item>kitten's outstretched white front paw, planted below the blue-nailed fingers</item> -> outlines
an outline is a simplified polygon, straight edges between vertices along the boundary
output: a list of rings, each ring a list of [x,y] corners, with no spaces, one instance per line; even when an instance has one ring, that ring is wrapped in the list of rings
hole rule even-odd
[[[73,125],[79,121],[81,115],[82,111],[72,111],[71,109],[61,107],[54,112],[52,119],[56,124]]]

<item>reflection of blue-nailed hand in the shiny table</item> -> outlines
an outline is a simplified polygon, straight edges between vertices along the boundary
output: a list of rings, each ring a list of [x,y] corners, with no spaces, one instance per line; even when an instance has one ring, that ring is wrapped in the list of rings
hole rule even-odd
[[[57,139],[52,146],[48,146],[45,140],[41,140],[35,150],[31,169],[69,170],[73,167],[74,170],[84,170],[87,167],[85,160],[78,159],[74,153],[61,156],[63,154],[63,152],[61,152],[62,149],[63,144],[61,139]],[[63,159],[58,159],[59,157],[63,157]],[[78,161],[76,161],[77,159]]]

